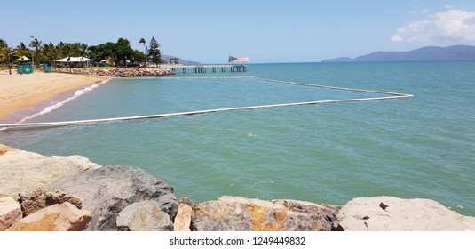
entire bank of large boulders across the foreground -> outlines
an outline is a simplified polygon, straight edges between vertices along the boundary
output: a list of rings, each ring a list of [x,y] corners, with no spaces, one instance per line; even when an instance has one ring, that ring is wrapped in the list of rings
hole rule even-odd
[[[0,155],[0,231],[475,230],[475,217],[428,199],[358,197],[340,206],[225,196],[195,204],[135,167],[3,145]]]

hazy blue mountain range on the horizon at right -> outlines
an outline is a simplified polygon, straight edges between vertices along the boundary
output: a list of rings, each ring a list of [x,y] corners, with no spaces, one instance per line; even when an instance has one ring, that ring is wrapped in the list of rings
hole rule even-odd
[[[408,52],[372,52],[354,59],[340,57],[321,62],[363,62],[363,61],[431,61],[431,60],[475,60],[475,46],[453,45],[448,47],[426,46]]]

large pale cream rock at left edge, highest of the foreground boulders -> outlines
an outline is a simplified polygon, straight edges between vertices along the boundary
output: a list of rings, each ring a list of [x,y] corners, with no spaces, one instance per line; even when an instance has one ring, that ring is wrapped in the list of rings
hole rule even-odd
[[[60,178],[99,168],[81,156],[44,157],[27,151],[11,151],[0,157],[0,189],[14,199],[20,192],[42,188]]]

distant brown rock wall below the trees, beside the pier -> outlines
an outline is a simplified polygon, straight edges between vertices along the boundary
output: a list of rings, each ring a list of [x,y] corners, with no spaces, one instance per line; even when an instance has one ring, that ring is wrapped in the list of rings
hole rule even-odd
[[[107,77],[139,77],[139,76],[169,76],[174,75],[169,68],[159,66],[157,68],[54,68],[57,73],[75,75],[107,76]]]

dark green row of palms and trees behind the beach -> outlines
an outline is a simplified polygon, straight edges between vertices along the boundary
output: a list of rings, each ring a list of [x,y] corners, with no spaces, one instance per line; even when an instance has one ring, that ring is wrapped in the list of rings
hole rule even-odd
[[[147,45],[144,38],[139,44],[144,45],[144,51],[133,50],[131,42],[125,38],[119,38],[116,43],[107,42],[105,44],[88,45],[82,43],[52,44],[43,43],[36,37],[31,36],[28,46],[24,43],[16,47],[10,47],[4,39],[0,39],[0,63],[12,63],[19,61],[23,56],[33,59],[36,65],[53,64],[56,60],[65,57],[87,57],[96,62],[100,60],[112,59],[116,66],[126,66],[127,64],[149,65],[149,63],[162,63],[162,52],[160,44],[154,36]],[[130,62],[129,62],[130,61]]]

